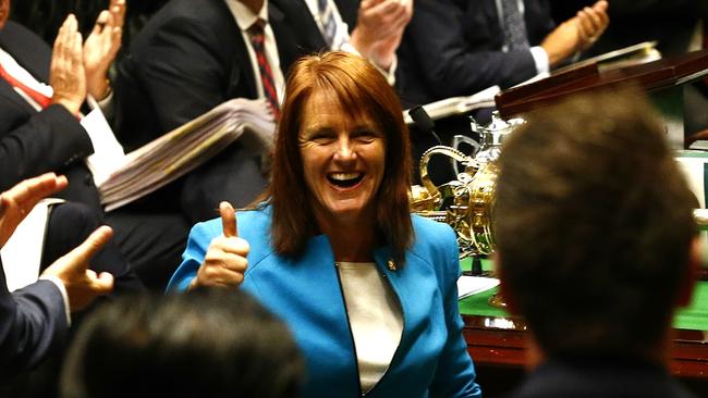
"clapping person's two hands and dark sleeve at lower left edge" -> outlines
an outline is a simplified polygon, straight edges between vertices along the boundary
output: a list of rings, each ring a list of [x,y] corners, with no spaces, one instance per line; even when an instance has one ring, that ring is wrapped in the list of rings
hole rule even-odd
[[[0,196],[0,247],[44,197],[66,186],[53,173],[25,179]],[[108,226],[59,258],[39,281],[13,293],[0,263],[0,377],[28,370],[58,350],[68,336],[70,311],[86,308],[113,288],[113,276],[87,270],[91,257],[111,238]]]

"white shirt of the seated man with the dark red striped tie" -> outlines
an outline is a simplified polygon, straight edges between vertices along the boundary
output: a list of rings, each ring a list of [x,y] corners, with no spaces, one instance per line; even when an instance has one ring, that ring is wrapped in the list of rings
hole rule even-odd
[[[260,70],[258,69],[258,59],[256,58],[256,52],[253,50],[251,45],[251,36],[248,35],[248,28],[257,21],[264,20],[268,22],[268,0],[264,0],[263,8],[258,14],[254,14],[251,9],[248,9],[244,3],[237,0],[224,0],[229,10],[233,14],[233,17],[236,20],[236,24],[241,29],[241,36],[243,41],[246,42],[246,50],[248,50],[248,58],[251,59],[251,65],[253,66],[254,77],[256,78],[256,90],[258,90],[258,98],[266,98],[264,92],[263,85],[260,84]],[[264,27],[265,35],[265,51],[266,59],[268,59],[268,64],[273,74],[273,83],[276,84],[276,91],[278,91],[278,100],[282,102],[283,90],[285,88],[285,78],[283,77],[283,72],[280,69],[280,55],[278,55],[278,45],[276,43],[276,35],[273,34],[270,24],[266,24]]]

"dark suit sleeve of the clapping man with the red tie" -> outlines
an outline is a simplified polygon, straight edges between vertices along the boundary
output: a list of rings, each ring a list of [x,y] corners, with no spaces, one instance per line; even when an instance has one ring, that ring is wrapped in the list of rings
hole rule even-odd
[[[50,105],[20,123],[9,107],[0,102],[0,191],[41,173],[61,172],[94,152],[88,134],[64,107]]]

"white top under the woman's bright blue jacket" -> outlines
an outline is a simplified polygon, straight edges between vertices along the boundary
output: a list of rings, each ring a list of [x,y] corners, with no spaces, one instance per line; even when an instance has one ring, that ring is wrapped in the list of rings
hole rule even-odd
[[[368,391],[389,368],[403,333],[401,304],[375,263],[339,262],[362,391]]]

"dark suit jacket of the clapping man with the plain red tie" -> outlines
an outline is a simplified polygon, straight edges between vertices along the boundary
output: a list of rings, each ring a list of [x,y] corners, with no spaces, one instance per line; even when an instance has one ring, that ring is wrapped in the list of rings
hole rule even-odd
[[[0,47],[39,82],[49,80],[51,50],[37,35],[9,21],[0,30]],[[84,164],[93,152],[86,130],[64,107],[37,112],[0,79],[0,191],[53,171],[70,183],[59,196],[100,212],[98,191]]]

